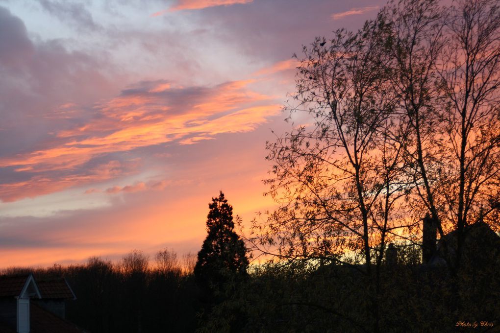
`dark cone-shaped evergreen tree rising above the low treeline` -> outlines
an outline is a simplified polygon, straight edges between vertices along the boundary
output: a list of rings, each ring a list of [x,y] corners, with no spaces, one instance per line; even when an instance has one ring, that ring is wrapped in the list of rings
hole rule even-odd
[[[208,207],[208,235],[194,267],[196,281],[205,288],[219,285],[231,277],[246,275],[248,266],[244,243],[234,232],[232,206],[222,191],[218,197],[212,198]]]

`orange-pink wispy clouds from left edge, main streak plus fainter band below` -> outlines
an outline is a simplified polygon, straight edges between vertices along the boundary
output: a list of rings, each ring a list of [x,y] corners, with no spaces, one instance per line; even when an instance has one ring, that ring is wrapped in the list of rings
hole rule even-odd
[[[60,191],[86,182],[134,172],[138,161],[97,158],[125,154],[168,142],[194,144],[221,133],[250,132],[280,109],[272,97],[248,88],[253,80],[214,87],[175,87],[144,81],[111,100],[94,105],[86,123],[53,134],[45,148],[0,158],[0,167],[28,179],[0,184],[0,200],[15,201]],[[64,115],[65,117],[65,115]],[[140,184],[106,192],[140,190]]]

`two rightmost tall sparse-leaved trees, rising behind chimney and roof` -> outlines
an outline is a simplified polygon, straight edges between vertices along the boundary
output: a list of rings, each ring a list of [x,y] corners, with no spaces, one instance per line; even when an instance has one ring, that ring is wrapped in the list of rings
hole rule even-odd
[[[411,13],[411,14],[409,14]],[[444,234],[463,229],[498,192],[500,10],[497,1],[402,0],[384,8],[392,28],[390,81],[410,124],[404,158],[414,220],[429,212]],[[417,234],[416,237],[419,237]]]

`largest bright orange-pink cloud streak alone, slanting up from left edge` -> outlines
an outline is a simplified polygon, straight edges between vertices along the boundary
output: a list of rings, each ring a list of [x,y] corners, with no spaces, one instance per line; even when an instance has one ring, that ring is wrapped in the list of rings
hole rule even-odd
[[[94,108],[99,116],[73,129],[56,133],[59,143],[45,149],[0,158],[0,167],[17,171],[54,171],[78,167],[93,157],[112,152],[184,140],[194,143],[219,133],[254,130],[275,115],[279,105],[271,96],[247,85],[253,80],[226,82],[213,88],[178,88],[173,97],[137,91]],[[144,89],[144,90],[145,90]],[[172,100],[173,98],[173,100]],[[167,104],[176,103],[177,109]],[[190,138],[190,139],[189,139]],[[96,174],[119,174],[119,163],[101,166]],[[114,174],[113,174],[114,172]]]

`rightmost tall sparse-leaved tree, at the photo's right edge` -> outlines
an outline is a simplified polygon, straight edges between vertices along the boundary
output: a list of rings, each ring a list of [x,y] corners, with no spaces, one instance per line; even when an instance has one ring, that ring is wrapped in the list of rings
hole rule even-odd
[[[458,267],[464,227],[498,192],[500,6],[494,0],[459,0],[449,12],[436,64],[446,148],[439,156],[445,164],[437,179],[442,185],[435,192],[441,221],[457,231]]]

